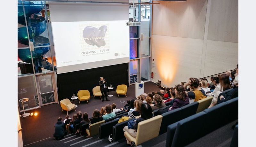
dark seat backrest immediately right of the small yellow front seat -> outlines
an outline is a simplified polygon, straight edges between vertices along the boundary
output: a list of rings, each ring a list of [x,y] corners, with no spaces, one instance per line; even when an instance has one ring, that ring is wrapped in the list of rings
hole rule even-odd
[[[118,123],[118,120],[111,120],[100,125],[100,139],[112,134],[112,127]]]

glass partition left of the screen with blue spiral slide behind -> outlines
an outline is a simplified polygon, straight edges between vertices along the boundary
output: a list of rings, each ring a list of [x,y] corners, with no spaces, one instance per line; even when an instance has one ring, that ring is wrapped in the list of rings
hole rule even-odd
[[[23,110],[58,103],[54,76],[57,69],[46,2],[18,0],[17,3],[18,107],[23,114]],[[22,98],[29,100],[22,104],[19,102]]]

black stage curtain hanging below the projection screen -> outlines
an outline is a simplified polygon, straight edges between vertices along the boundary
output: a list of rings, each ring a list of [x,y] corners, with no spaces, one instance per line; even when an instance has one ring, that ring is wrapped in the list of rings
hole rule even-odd
[[[92,89],[99,86],[101,76],[108,85],[111,84],[114,87],[110,91],[115,91],[120,84],[129,87],[127,63],[57,74],[59,101],[72,97],[73,93],[77,96],[79,90],[89,90],[93,96]]]

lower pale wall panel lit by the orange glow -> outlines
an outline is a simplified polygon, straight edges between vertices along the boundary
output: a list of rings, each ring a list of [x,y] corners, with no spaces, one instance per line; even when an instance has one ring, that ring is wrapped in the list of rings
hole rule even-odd
[[[172,36],[152,36],[153,82],[175,86],[190,77],[199,77],[203,40]]]

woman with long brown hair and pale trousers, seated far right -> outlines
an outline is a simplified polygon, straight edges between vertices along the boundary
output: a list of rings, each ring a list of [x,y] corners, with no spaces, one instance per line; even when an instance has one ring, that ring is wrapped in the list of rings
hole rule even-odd
[[[214,89],[214,91],[213,91],[214,96],[212,98],[212,103],[209,106],[209,108],[211,108],[217,104],[218,97],[219,97],[220,93],[222,93],[223,91],[228,90],[230,88],[231,88],[231,85],[230,85],[230,81],[229,81],[229,76],[227,74],[221,74],[220,75],[220,90],[218,89],[218,91],[215,91],[215,89]]]

